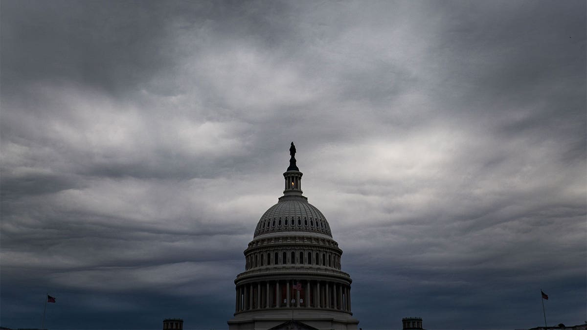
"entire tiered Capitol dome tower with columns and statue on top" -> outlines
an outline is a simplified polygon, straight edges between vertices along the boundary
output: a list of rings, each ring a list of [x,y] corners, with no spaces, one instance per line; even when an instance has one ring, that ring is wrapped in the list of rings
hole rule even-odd
[[[349,274],[326,217],[302,195],[295,146],[284,196],[261,216],[237,275],[229,329],[356,329]]]

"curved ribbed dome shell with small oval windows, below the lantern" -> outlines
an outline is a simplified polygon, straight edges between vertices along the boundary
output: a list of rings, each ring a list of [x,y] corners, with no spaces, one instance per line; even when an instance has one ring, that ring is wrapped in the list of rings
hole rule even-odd
[[[279,202],[261,216],[254,237],[269,233],[291,233],[301,231],[328,235],[330,226],[318,208],[308,203],[306,198],[284,196]]]

